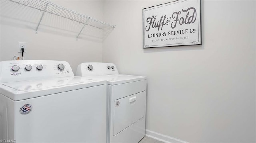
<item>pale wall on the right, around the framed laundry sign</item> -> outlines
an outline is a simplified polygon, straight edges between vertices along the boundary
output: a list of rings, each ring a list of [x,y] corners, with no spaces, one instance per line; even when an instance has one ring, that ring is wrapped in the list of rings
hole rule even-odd
[[[148,77],[146,129],[188,142],[255,142],[255,1],[202,1],[202,45],[142,49],[142,9],[105,1],[103,61]]]

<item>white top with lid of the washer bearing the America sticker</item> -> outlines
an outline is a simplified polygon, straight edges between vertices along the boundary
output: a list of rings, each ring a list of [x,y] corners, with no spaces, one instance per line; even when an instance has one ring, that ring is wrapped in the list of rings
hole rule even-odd
[[[106,81],[91,78],[82,79],[81,77],[70,76],[49,78],[45,80],[7,82],[1,84],[0,89],[1,94],[17,101],[102,84],[106,84]]]

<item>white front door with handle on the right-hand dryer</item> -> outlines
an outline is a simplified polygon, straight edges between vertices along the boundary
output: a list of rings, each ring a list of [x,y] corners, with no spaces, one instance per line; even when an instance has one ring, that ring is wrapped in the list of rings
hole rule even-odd
[[[146,92],[133,94],[114,102],[114,135],[126,129],[146,114]]]

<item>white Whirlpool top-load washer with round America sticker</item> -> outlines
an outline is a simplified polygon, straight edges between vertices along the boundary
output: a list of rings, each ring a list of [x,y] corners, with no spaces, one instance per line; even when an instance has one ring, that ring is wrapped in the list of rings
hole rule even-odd
[[[74,76],[65,61],[1,61],[1,139],[106,143],[106,81]]]

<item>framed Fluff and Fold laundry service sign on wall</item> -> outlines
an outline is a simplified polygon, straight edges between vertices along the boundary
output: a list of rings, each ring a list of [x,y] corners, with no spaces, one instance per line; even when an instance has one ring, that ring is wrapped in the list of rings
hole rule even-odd
[[[201,45],[200,0],[143,9],[143,48]]]

